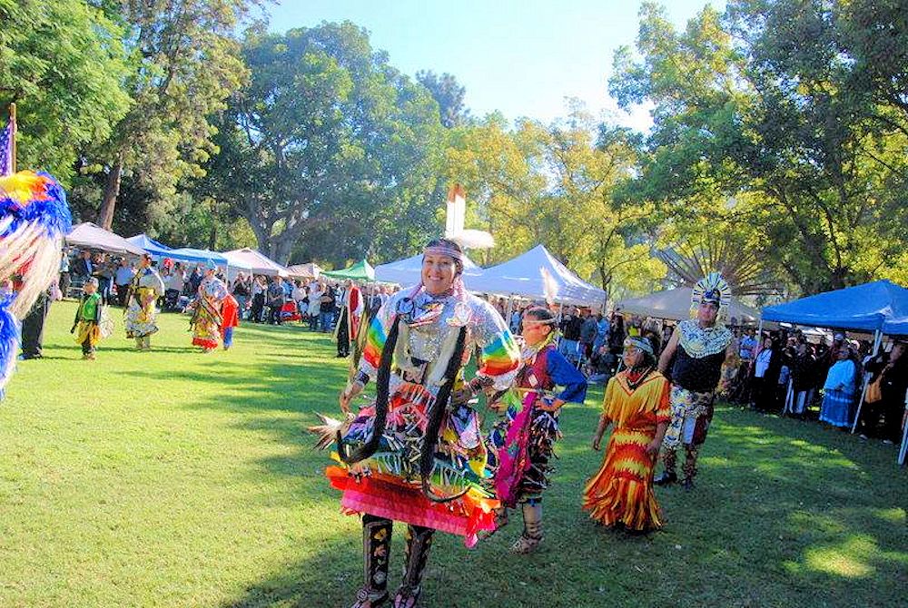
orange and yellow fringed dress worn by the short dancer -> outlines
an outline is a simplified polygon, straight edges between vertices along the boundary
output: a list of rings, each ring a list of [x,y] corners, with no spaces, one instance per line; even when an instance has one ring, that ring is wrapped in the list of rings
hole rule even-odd
[[[653,492],[656,457],[646,454],[646,446],[656,437],[656,425],[671,417],[671,385],[657,371],[636,383],[627,370],[608,381],[602,407],[615,428],[602,466],[584,489],[583,508],[603,525],[658,529],[662,519]]]

